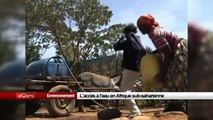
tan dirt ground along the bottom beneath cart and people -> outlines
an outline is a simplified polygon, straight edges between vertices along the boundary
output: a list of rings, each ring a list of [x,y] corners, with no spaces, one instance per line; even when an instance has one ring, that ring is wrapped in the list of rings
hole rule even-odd
[[[133,120],[187,120],[187,115],[181,112],[164,113],[158,117],[154,115],[156,111],[162,110],[162,108],[143,109],[141,111],[144,112],[144,116],[137,116]],[[125,117],[128,115],[128,111],[122,110],[122,113],[121,118],[113,120],[128,120],[128,118]],[[97,112],[75,112],[68,117],[53,118],[48,114],[47,110],[40,109],[35,115],[27,117],[26,120],[97,120]]]

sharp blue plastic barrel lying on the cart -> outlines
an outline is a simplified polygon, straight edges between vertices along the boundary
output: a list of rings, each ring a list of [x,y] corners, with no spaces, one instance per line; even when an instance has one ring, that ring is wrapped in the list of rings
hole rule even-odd
[[[32,62],[27,66],[26,78],[45,80],[49,77],[67,78],[70,76],[65,60],[59,56]]]

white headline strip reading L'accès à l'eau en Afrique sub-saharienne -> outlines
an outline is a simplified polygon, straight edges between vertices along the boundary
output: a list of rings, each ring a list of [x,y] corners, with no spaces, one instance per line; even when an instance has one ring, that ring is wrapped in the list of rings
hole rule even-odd
[[[78,92],[77,99],[213,100],[213,92]]]

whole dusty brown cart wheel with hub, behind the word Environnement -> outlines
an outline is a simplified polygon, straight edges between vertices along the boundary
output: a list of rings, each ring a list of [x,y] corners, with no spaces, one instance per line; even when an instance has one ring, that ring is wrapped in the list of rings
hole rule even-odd
[[[50,89],[49,92],[72,92],[71,89],[65,85],[58,85]],[[73,112],[75,108],[75,100],[69,99],[52,99],[46,101],[46,107],[49,113],[53,116],[61,117],[67,116]]]

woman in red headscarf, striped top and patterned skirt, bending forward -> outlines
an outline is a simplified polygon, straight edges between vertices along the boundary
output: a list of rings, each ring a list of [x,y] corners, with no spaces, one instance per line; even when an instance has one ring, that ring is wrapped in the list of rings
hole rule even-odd
[[[157,80],[165,83],[169,91],[184,91],[188,86],[188,45],[187,40],[173,32],[161,27],[151,14],[145,14],[138,18],[137,26],[140,32],[147,34],[157,48],[157,56],[160,58],[161,72]],[[183,101],[169,101],[164,112],[183,111]]]

